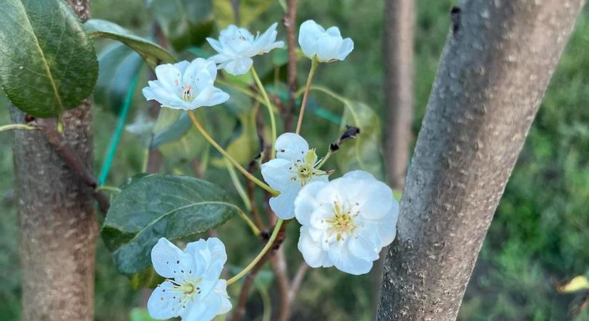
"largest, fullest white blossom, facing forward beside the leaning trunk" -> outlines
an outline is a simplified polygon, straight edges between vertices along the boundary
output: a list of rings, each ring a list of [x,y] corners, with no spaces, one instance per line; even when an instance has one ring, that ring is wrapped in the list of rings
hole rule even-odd
[[[361,170],[309,183],[295,200],[298,250],[311,267],[366,274],[395,239],[398,211],[391,188]]]

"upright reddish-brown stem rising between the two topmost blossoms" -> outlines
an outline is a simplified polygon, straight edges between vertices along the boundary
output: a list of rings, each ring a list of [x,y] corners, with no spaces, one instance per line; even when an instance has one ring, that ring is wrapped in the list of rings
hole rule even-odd
[[[288,12],[284,16],[286,27],[286,42],[288,44],[288,104],[284,111],[284,131],[293,130],[293,109],[295,106],[294,95],[297,91],[296,84],[296,4],[297,0],[288,0]]]

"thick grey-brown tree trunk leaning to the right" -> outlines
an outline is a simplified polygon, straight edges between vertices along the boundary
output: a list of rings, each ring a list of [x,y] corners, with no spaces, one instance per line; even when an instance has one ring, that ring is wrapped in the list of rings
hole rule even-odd
[[[378,320],[455,320],[583,0],[465,0],[418,136]]]

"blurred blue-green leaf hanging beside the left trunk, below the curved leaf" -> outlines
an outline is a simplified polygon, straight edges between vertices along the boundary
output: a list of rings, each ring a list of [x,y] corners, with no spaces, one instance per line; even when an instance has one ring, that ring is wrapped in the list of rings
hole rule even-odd
[[[99,54],[99,78],[94,101],[119,113],[133,76],[143,64],[141,56],[124,44],[111,44]]]

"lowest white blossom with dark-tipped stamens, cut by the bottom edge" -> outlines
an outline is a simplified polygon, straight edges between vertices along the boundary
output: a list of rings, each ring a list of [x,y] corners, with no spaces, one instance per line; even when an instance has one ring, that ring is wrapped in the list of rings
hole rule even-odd
[[[231,310],[226,280],[219,280],[227,260],[218,238],[188,243],[180,250],[160,238],[151,250],[151,261],[166,281],[158,285],[147,302],[153,319],[181,317],[183,321],[211,321]]]

